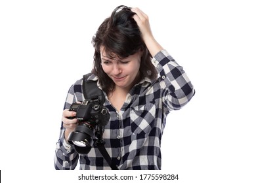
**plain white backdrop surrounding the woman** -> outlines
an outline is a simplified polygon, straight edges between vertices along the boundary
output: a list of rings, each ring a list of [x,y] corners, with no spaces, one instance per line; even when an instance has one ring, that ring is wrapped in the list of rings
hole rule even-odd
[[[256,14],[246,0],[1,1],[1,179],[78,181],[80,172],[53,167],[62,108],[91,71],[91,38],[118,5],[148,14],[196,88],[167,118],[162,172],[177,182],[255,182]]]

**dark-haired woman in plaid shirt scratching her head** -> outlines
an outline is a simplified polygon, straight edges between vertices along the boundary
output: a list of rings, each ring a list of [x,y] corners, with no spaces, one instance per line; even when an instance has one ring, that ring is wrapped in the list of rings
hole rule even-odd
[[[139,8],[117,7],[93,37],[93,75],[106,97],[110,122],[104,126],[105,147],[118,169],[161,169],[161,135],[166,117],[194,95],[182,67],[154,39],[148,16]],[[98,148],[78,154],[68,135],[77,127],[72,103],[83,101],[81,82],[68,92],[56,144],[54,167],[110,169]],[[78,88],[78,89],[77,89]]]

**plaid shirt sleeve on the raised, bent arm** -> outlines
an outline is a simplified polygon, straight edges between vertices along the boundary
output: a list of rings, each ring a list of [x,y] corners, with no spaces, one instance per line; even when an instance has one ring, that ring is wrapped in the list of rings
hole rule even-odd
[[[152,63],[159,73],[164,107],[168,111],[179,110],[194,96],[195,90],[190,79],[166,50],[158,52]]]

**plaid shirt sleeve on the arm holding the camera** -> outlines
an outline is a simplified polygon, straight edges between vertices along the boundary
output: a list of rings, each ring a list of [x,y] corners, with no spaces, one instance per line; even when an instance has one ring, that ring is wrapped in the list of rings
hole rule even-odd
[[[81,80],[78,80],[68,91],[64,109],[69,108],[74,102],[82,101],[82,99]],[[79,154],[75,151],[74,145],[66,142],[64,131],[65,127],[63,126],[63,122],[61,122],[60,137],[58,142],[56,142],[54,156],[54,167],[57,170],[75,169],[79,159]]]

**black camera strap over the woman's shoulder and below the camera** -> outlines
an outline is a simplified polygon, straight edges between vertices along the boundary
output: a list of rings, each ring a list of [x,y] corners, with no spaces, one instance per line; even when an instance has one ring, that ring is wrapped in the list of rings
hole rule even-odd
[[[100,105],[103,105],[105,102],[104,93],[102,92],[102,90],[100,90],[100,88],[98,88],[96,81],[88,80],[89,76],[91,75],[92,73],[83,75],[83,96],[85,97],[85,99],[100,99]],[[112,162],[112,158],[110,158],[110,155],[106,151],[104,141],[95,140],[95,146],[98,148],[102,156],[106,159],[108,165],[110,165],[112,170],[117,170],[115,163]]]

